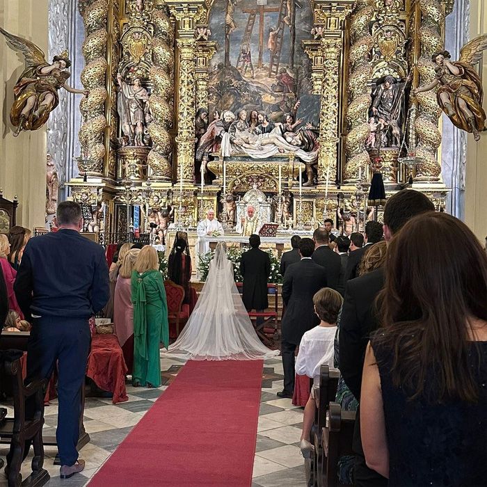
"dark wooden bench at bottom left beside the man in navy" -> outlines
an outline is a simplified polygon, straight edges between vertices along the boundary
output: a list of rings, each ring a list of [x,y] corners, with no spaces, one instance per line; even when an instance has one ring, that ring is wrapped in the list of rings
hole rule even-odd
[[[6,353],[3,353],[6,355]],[[42,426],[44,425],[44,394],[47,379],[39,379],[24,385],[22,366],[19,358],[14,360],[2,356],[0,367],[12,381],[14,416],[0,421],[0,437],[10,442],[13,455],[8,465],[8,487],[43,486],[49,481],[49,473],[44,465],[44,445],[42,443]],[[26,419],[26,399],[33,399],[33,419]],[[24,458],[26,440],[33,442],[34,456],[32,473],[22,482],[20,468]]]

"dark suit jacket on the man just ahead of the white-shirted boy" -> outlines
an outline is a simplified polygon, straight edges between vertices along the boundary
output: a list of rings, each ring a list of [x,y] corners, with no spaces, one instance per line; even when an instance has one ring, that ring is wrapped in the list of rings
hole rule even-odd
[[[282,300],[286,305],[282,340],[299,345],[305,332],[319,324],[313,296],[322,287],[326,287],[326,271],[311,259],[302,259],[287,268],[282,282]]]

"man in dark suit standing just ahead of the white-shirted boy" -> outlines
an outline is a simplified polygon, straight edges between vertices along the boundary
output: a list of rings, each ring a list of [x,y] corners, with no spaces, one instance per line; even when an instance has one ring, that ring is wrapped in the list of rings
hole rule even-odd
[[[326,287],[326,272],[322,266],[313,262],[311,258],[313,252],[314,241],[301,239],[299,242],[301,260],[287,268],[282,282],[282,301],[286,305],[281,323],[284,389],[278,392],[278,397],[293,396],[296,346],[299,345],[306,331],[319,324],[319,318],[314,313],[313,296],[319,289]],[[338,259],[340,260],[340,257]]]

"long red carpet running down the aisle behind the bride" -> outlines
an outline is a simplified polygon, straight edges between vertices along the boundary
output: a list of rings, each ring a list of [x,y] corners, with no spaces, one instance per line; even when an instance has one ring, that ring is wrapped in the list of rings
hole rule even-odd
[[[90,487],[252,482],[262,360],[190,361]]]

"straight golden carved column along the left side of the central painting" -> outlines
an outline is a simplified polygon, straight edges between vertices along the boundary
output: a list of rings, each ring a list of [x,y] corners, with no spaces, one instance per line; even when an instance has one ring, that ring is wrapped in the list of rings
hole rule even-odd
[[[177,181],[194,182],[195,159],[195,26],[201,15],[202,1],[181,3],[167,0],[177,20]]]

